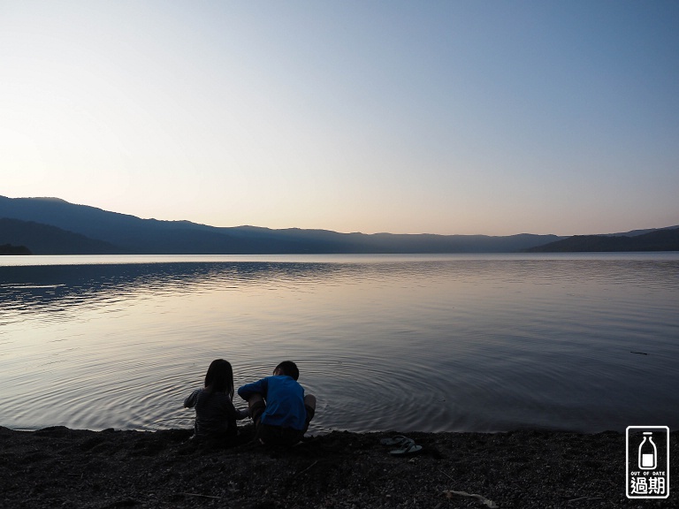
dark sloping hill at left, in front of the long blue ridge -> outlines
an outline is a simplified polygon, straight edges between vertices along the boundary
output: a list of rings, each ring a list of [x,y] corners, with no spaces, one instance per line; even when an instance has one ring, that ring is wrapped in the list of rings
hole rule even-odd
[[[0,243],[16,244],[34,255],[114,255],[118,248],[102,240],[88,239],[79,233],[56,226],[19,219],[0,219]]]

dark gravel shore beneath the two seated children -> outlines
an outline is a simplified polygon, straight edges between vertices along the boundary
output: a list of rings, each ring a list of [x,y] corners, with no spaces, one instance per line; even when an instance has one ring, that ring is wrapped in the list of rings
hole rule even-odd
[[[625,497],[625,436],[521,430],[408,433],[406,457],[380,439],[332,432],[286,450],[195,444],[191,431],[0,428],[0,507],[677,507],[679,436],[670,437],[670,498]],[[477,495],[469,497],[456,492]]]

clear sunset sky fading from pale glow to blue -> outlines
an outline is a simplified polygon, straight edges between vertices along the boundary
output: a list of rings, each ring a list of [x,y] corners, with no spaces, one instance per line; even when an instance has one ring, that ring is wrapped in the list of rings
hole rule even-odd
[[[336,232],[679,224],[679,3],[0,0],[0,195]]]

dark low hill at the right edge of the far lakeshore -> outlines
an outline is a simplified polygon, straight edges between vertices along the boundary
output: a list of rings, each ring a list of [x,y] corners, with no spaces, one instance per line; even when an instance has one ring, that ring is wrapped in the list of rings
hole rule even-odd
[[[528,253],[577,253],[614,251],[679,251],[679,227],[640,235],[576,235],[530,247]]]

